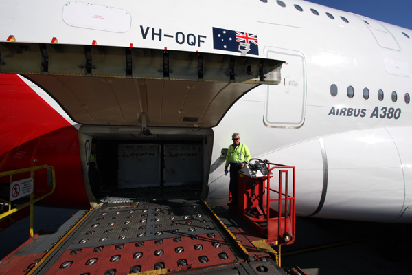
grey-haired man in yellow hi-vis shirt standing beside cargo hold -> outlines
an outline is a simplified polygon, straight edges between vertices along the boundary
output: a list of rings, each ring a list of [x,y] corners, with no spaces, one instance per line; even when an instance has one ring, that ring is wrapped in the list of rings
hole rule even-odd
[[[230,184],[229,191],[232,195],[231,203],[227,203],[228,206],[238,205],[238,181],[239,170],[248,164],[251,159],[251,154],[246,145],[240,143],[239,133],[233,133],[233,144],[229,145],[226,155],[225,174],[227,175],[227,167],[230,164]]]

